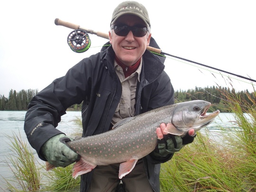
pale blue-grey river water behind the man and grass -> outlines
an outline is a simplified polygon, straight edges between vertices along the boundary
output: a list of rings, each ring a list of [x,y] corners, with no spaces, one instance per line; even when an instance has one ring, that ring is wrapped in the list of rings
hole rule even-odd
[[[6,160],[12,154],[10,151],[10,140],[7,136],[12,137],[13,134],[19,136],[20,134],[23,141],[27,142],[27,137],[23,130],[25,114],[26,111],[0,111],[0,187],[2,188],[5,186],[3,178],[8,179],[13,175],[9,167],[6,166]],[[62,121],[57,128],[70,135],[78,128],[74,120],[80,117],[80,111],[67,111],[67,114],[62,116]],[[211,135],[218,140],[220,136],[219,128],[234,128],[234,120],[232,113],[220,113],[214,122],[207,126],[206,129],[201,129],[201,132],[209,130]],[[32,150],[38,158],[36,151],[34,149]],[[39,162],[44,163],[40,159]]]

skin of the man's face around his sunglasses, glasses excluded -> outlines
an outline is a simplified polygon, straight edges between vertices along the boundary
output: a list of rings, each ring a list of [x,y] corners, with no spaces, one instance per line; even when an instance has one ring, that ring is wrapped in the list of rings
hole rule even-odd
[[[125,24],[130,27],[137,25],[146,26],[145,22],[135,15],[124,15],[118,18],[116,24]],[[112,45],[118,59],[122,64],[131,66],[144,54],[146,47],[149,45],[150,37],[146,34],[144,37],[135,37],[132,31],[129,31],[125,37],[118,36],[114,30],[110,34],[110,44]]]

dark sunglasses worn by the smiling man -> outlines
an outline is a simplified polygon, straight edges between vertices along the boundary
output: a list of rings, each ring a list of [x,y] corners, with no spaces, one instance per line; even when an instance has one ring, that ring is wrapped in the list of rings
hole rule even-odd
[[[127,36],[130,31],[135,37],[144,37],[147,32],[147,27],[145,26],[127,26],[123,24],[112,25],[111,29],[114,29],[115,34],[118,36]]]

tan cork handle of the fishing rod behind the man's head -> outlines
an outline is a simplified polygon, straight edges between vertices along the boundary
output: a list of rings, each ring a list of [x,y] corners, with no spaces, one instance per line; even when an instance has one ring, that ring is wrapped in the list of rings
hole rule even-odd
[[[72,28],[72,29],[82,29],[82,30],[85,30],[87,33],[94,34],[94,35],[97,35],[98,37],[102,37],[102,38],[105,38],[105,39],[109,39],[109,34],[107,34],[107,33],[97,32],[97,31],[93,31],[91,29],[80,27],[80,25],[69,23],[69,22],[63,21],[59,18],[55,18],[54,23],[55,23],[55,25],[61,25],[61,26],[64,26],[64,27]],[[146,49],[149,50],[149,51],[155,52],[157,54],[162,53],[161,49],[157,49],[157,48],[152,47],[152,46],[147,46]]]

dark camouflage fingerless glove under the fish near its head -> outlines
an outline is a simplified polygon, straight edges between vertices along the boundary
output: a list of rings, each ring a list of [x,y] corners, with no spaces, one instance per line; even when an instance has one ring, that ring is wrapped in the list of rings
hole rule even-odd
[[[183,146],[192,143],[195,136],[185,135],[185,137],[174,136],[171,134],[164,135],[163,139],[157,139],[158,145],[153,151],[156,157],[165,157],[182,149]]]

